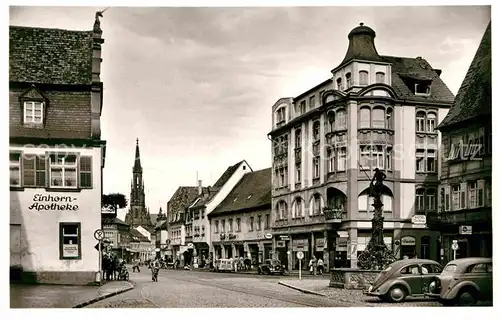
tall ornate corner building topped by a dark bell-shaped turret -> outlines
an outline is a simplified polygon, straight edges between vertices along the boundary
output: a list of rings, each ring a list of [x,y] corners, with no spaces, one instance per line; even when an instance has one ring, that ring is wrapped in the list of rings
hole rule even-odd
[[[368,189],[379,168],[386,244],[398,258],[436,259],[439,234],[425,219],[437,211],[436,126],[454,96],[425,59],[379,55],[371,28],[360,24],[348,39],[329,79],[272,107],[273,251],[284,246],[290,268],[297,251],[326,267],[356,267],[371,237]]]

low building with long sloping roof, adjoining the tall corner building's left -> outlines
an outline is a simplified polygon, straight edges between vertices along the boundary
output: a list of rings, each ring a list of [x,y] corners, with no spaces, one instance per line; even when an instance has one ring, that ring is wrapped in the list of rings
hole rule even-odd
[[[250,258],[258,265],[273,258],[271,169],[246,173],[208,216],[215,259]]]

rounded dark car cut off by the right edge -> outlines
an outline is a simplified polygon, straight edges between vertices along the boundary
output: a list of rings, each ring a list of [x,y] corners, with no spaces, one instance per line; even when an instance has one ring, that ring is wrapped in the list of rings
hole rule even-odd
[[[471,306],[493,300],[491,258],[462,258],[450,261],[430,284],[430,297],[443,305]]]

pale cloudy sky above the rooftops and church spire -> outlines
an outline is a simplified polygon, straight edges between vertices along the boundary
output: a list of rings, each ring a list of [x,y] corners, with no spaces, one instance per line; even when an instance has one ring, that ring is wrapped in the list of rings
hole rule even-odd
[[[91,30],[103,7],[11,7],[10,25]],[[139,138],[151,213],[240,160],[271,166],[271,107],[331,76],[360,22],[381,55],[425,58],[456,94],[490,7],[110,7],[101,18],[104,193],[130,196]],[[119,216],[124,217],[123,210]]]

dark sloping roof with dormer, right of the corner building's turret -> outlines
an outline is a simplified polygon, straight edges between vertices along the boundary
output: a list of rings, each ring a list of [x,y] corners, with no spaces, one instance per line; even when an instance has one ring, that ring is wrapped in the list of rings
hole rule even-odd
[[[417,58],[404,58],[382,56],[382,58],[392,65],[392,88],[396,92],[397,98],[412,101],[429,101],[452,103],[453,93],[441,80],[438,72],[432,68],[427,60]],[[415,95],[414,88],[409,88],[404,80],[412,79],[430,82],[430,95]]]

